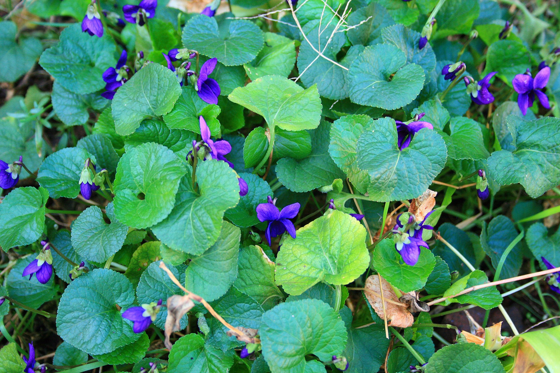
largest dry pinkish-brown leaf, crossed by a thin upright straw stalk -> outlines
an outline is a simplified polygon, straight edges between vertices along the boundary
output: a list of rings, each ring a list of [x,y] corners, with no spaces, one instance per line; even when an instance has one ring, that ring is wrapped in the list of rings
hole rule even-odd
[[[371,291],[376,292],[377,294],[381,294],[381,289],[379,286],[379,278],[381,278],[381,284],[383,289],[383,297],[386,300],[391,300],[396,303],[399,302],[398,296],[395,295],[393,291],[393,287],[389,285],[389,282],[385,280],[385,278],[377,275],[372,275],[367,277],[365,288]],[[365,291],[364,294],[366,295],[367,300],[370,302],[372,308],[375,310],[377,315],[385,320],[385,314],[383,312],[383,304],[381,303],[381,298],[377,295],[374,295],[368,291]],[[389,320],[389,324],[392,327],[399,327],[399,328],[408,328],[410,325],[414,323],[414,317],[412,314],[407,311],[405,306],[399,306],[393,303],[389,303],[388,301],[385,302],[385,310],[387,311],[387,320]]]

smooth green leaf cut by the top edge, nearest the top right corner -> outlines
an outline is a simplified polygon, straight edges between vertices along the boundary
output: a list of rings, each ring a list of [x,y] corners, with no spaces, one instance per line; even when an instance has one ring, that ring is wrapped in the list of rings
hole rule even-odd
[[[478,0],[446,1],[437,13],[437,29],[433,38],[468,34],[479,11]]]

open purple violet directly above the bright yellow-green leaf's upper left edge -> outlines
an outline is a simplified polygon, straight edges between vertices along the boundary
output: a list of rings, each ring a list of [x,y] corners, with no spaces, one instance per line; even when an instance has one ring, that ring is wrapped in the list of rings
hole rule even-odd
[[[268,245],[270,245],[271,237],[276,237],[286,231],[288,231],[292,238],[296,238],[296,227],[288,219],[295,218],[299,211],[300,204],[297,202],[284,207],[282,211],[278,210],[276,198],[273,200],[270,196],[268,196],[268,202],[256,206],[256,217],[260,221],[268,221],[268,227],[264,233],[268,240]]]

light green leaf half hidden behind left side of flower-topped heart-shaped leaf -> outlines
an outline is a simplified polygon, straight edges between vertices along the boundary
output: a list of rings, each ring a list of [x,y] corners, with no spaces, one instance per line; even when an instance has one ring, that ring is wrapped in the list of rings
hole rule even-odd
[[[329,154],[360,193],[367,192],[370,175],[358,168],[356,148],[360,135],[373,125],[374,121],[367,115],[348,115],[330,126]]]

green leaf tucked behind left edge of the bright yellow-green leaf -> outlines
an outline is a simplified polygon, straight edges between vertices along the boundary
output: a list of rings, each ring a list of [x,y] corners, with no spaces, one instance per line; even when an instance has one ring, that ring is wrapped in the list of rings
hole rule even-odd
[[[270,309],[284,298],[274,284],[274,262],[260,246],[242,248],[239,252],[239,273],[234,286],[258,301],[264,309]]]

